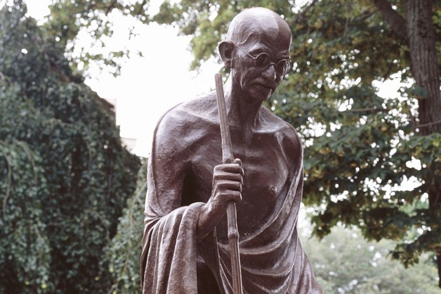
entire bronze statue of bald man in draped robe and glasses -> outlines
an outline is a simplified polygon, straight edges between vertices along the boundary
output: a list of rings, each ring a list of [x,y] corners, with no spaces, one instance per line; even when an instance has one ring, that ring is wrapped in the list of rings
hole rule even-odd
[[[222,163],[216,92],[170,109],[148,166],[143,293],[233,293],[225,211],[236,202],[243,293],[322,293],[297,233],[302,146],[262,103],[289,70],[291,31],[240,12],[219,44],[233,162]]]

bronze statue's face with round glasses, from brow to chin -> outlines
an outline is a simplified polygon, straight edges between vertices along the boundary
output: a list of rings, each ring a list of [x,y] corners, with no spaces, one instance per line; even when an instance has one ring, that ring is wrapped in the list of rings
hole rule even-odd
[[[274,93],[283,78],[276,66],[279,63],[280,67],[280,61],[289,59],[290,44],[290,38],[275,41],[264,33],[250,36],[245,43],[234,46],[232,78],[243,98],[261,103]],[[258,61],[254,59],[261,53],[269,57],[270,65],[266,68],[256,66]]]

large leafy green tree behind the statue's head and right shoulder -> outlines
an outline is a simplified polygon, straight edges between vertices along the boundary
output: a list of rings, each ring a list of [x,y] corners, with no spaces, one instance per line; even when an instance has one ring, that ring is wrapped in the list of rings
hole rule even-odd
[[[153,20],[193,36],[197,67],[234,14],[283,15],[294,70],[267,105],[305,144],[314,233],[356,225],[369,240],[395,240],[405,266],[435,253],[441,276],[440,1],[296,2],[166,1]],[[378,96],[388,78],[405,83],[400,95]]]

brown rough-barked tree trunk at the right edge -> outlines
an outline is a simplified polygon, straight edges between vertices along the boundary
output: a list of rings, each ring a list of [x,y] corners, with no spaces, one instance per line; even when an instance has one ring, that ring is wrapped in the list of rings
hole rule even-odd
[[[411,71],[416,86],[424,90],[418,96],[418,129],[422,136],[441,131],[441,92],[438,56],[435,48],[435,30],[432,22],[432,0],[406,0],[407,33],[411,56]],[[426,167],[430,169],[430,167]],[[430,174],[430,173],[429,173]],[[429,189],[429,210],[433,217],[441,210],[441,185],[436,180],[427,179]],[[437,255],[438,276],[441,287],[441,249]]]

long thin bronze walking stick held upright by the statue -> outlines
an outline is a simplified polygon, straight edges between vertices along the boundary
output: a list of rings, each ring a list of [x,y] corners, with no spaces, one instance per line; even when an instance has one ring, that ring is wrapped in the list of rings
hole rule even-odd
[[[227,118],[227,109],[225,109],[225,97],[223,94],[222,76],[215,74],[216,94],[218,101],[218,112],[220,120],[220,136],[222,138],[222,162],[231,163],[234,161],[232,139],[229,136],[229,126]],[[243,294],[242,291],[242,273],[240,271],[239,256],[239,231],[237,229],[236,203],[233,201],[227,206],[228,222],[228,242],[229,256],[232,262],[233,293]]]

